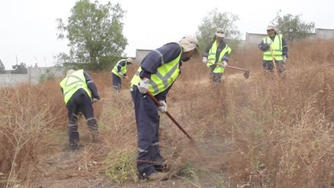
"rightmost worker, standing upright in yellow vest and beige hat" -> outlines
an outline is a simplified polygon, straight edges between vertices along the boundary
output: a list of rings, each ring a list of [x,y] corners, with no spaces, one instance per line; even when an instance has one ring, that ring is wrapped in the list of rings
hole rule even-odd
[[[275,58],[278,73],[285,72],[285,63],[288,57],[287,42],[283,36],[277,33],[273,25],[267,26],[268,36],[263,38],[259,48],[263,53],[263,68],[266,72],[273,72],[273,58]]]

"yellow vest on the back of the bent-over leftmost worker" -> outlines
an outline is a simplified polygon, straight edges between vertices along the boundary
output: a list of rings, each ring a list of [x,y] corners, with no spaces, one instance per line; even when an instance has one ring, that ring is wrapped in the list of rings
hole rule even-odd
[[[79,88],[83,88],[89,97],[91,96],[86,84],[84,70],[82,69],[77,70],[76,72],[73,72],[72,75],[65,77],[65,79],[61,81],[61,88],[63,88],[65,104],[67,104],[72,95],[78,91]]]

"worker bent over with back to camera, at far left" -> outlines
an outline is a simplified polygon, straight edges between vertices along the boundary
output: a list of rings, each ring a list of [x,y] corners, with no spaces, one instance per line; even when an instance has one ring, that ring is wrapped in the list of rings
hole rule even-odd
[[[82,112],[87,120],[92,141],[98,140],[99,131],[94,118],[93,102],[100,100],[97,87],[93,79],[84,70],[68,70],[65,79],[61,81],[63,93],[68,111],[67,134],[70,138],[71,150],[77,150],[79,146],[78,114]]]

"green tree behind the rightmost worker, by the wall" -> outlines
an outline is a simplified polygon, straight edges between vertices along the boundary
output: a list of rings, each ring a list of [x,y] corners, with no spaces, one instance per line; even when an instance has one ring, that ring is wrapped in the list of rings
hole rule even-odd
[[[272,24],[276,25],[278,31],[280,31],[280,33],[282,33],[287,40],[301,40],[308,38],[314,33],[314,22],[304,22],[301,20],[301,15],[286,14],[281,16],[280,13],[281,10],[278,11],[276,17],[272,21]]]

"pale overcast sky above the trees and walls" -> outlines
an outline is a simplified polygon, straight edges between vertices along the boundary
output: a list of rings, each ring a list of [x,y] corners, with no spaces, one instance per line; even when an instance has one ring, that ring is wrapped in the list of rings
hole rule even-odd
[[[38,63],[44,67],[53,65],[56,54],[68,52],[67,41],[56,39],[56,18],[65,21],[76,1],[1,0],[0,59],[6,69],[15,65],[15,56],[19,63]],[[187,34],[195,34],[201,19],[214,8],[239,15],[237,25],[242,38],[246,32],[265,33],[278,10],[283,14],[302,14],[301,18],[305,22],[315,22],[316,28],[334,29],[333,0],[111,0],[111,3],[116,2],[127,10],[123,32],[129,42],[125,49],[128,56],[135,56],[136,49],[154,49]]]

